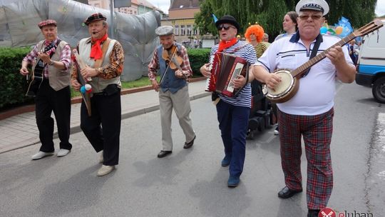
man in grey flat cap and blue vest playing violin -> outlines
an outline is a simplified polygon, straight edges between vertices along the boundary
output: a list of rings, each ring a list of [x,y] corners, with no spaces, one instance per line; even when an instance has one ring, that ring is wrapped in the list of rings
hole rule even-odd
[[[148,78],[153,89],[159,93],[163,149],[158,153],[158,158],[168,156],[173,151],[173,138],[171,137],[173,109],[183,133],[185,133],[183,148],[191,148],[196,137],[190,119],[190,96],[186,81],[193,71],[187,50],[182,44],[174,41],[173,32],[173,26],[160,26],[155,29],[155,34],[160,39],[160,46],[155,49],[153,59],[148,64]],[[159,82],[156,80],[158,69],[160,71]]]

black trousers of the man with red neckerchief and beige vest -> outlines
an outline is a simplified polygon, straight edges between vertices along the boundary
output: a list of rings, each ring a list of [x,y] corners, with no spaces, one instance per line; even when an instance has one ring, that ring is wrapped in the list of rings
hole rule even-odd
[[[91,116],[86,104],[81,103],[81,130],[96,152],[103,150],[103,165],[117,165],[119,161],[120,91],[110,96],[91,97]]]

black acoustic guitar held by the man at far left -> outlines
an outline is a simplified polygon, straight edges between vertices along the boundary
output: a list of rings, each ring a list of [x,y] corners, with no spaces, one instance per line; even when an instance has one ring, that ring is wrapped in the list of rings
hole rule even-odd
[[[53,47],[56,47],[56,44],[54,41],[52,41],[51,44],[46,46],[41,52],[46,53],[47,51],[51,50]],[[51,55],[52,56],[52,55]],[[26,91],[26,96],[32,96],[35,97],[37,94],[37,91],[39,91],[41,84],[43,83],[43,71],[46,67],[46,63],[44,63],[43,60],[38,58],[37,64],[32,69],[31,73],[26,76],[26,80],[28,83],[28,89]]]

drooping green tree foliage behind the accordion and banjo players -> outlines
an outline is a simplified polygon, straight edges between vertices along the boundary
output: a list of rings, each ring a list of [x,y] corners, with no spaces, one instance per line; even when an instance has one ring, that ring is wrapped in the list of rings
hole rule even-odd
[[[218,19],[230,14],[240,23],[243,35],[250,24],[260,24],[270,39],[282,33],[282,19],[287,11],[295,11],[298,0],[200,0],[200,13],[195,14],[195,24],[201,34],[217,35],[212,14]],[[337,24],[341,16],[349,19],[353,28],[359,28],[374,19],[376,0],[327,0],[329,25]]]

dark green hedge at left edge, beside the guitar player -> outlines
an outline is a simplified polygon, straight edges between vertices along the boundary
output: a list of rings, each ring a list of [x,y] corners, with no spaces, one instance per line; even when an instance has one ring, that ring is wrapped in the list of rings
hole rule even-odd
[[[15,104],[34,101],[25,96],[26,77],[19,73],[21,60],[30,50],[29,48],[0,48],[0,110]]]

